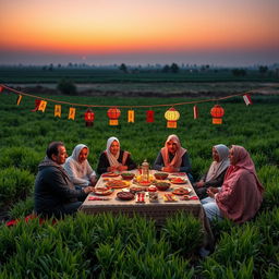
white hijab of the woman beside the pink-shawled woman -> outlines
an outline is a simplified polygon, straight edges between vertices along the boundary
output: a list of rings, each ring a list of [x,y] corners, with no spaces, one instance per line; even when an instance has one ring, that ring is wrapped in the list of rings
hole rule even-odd
[[[218,144],[215,145],[214,147],[216,148],[219,155],[220,161],[213,161],[207,172],[205,182],[218,178],[219,174],[222,173],[223,170],[226,170],[230,166],[229,148],[223,144]]]

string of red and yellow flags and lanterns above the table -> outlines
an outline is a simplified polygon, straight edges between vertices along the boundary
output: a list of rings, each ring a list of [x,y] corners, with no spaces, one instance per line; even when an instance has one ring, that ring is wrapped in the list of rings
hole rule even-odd
[[[84,113],[84,120],[86,126],[92,126],[95,120],[95,113],[90,108],[108,108],[107,110],[107,116],[109,118],[109,125],[118,125],[119,124],[119,118],[121,116],[121,108],[128,108],[128,122],[129,123],[134,123],[135,122],[135,111],[133,108],[155,108],[155,107],[170,107],[166,112],[165,112],[165,118],[167,120],[167,128],[170,129],[175,129],[178,120],[180,119],[180,112],[174,108],[178,106],[183,106],[183,105],[194,105],[193,106],[193,118],[198,119],[198,107],[197,104],[202,102],[208,102],[208,101],[214,101],[218,102],[219,100],[225,100],[229,99],[235,96],[242,96],[243,100],[246,106],[252,105],[252,98],[251,94],[254,94],[260,89],[271,87],[271,86],[266,86],[262,88],[257,88],[254,90],[248,90],[245,93],[240,93],[240,94],[234,94],[230,96],[225,96],[225,97],[219,97],[219,98],[211,98],[211,99],[203,99],[203,100],[195,100],[195,101],[185,101],[185,102],[177,102],[177,104],[163,104],[163,105],[137,105],[137,106],[105,106],[105,105],[85,105],[85,104],[73,104],[73,102],[68,102],[68,101],[61,101],[61,100],[54,100],[50,98],[44,98],[40,96],[23,93],[20,90],[16,90],[12,87],[9,87],[7,85],[0,84],[0,93],[3,92],[3,89],[8,92],[12,92],[17,95],[16,99],[16,105],[20,106],[23,96],[26,97],[32,97],[35,98],[35,108],[32,111],[41,111],[45,112],[48,102],[54,102],[54,111],[53,114],[54,117],[61,118],[62,114],[62,107],[61,105],[68,105],[70,106],[69,108],[69,113],[68,113],[68,119],[75,120],[76,116],[76,108],[75,107],[86,107],[87,110]],[[213,124],[222,124],[222,117],[225,116],[225,109],[220,105],[215,105],[211,110],[210,114],[213,117]],[[149,109],[146,111],[146,122],[147,123],[153,123],[155,122],[155,111]]]

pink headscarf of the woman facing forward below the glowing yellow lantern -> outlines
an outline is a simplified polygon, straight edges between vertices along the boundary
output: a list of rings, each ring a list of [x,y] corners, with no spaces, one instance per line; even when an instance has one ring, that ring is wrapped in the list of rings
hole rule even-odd
[[[170,161],[169,159],[169,151],[168,151],[168,145],[167,143],[172,141],[173,143],[177,144],[178,146],[178,150],[173,157],[173,159]],[[167,138],[166,143],[165,143],[165,147],[161,148],[161,156],[163,159],[163,165],[165,167],[174,167],[174,168],[179,168],[181,166],[182,162],[182,156],[186,153],[187,150],[183,147],[181,147],[181,143],[179,141],[179,137],[177,135],[169,135],[169,137]]]

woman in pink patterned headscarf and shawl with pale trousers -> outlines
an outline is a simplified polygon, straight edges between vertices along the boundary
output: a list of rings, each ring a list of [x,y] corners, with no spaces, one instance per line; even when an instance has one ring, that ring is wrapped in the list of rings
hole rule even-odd
[[[259,209],[264,187],[244,147],[232,145],[229,158],[231,166],[226,172],[221,190],[209,187],[209,197],[202,199],[202,204],[209,220],[226,217],[243,223]]]

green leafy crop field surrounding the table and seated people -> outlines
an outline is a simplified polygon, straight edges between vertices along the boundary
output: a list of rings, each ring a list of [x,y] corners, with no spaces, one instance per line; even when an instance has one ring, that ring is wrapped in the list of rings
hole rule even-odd
[[[0,94],[0,204],[10,218],[33,209],[37,166],[51,141],[63,141],[71,155],[76,144],[90,148],[88,160],[96,168],[107,138],[117,136],[133,159],[150,163],[169,134],[177,134],[187,148],[193,174],[198,179],[211,162],[216,144],[243,145],[251,154],[265,186],[264,203],[256,218],[235,226],[214,222],[215,252],[198,258],[201,225],[191,216],[178,215],[156,231],[143,218],[112,218],[110,215],[69,217],[57,225],[20,222],[0,228],[0,278],[276,278],[279,274],[279,96],[253,95],[245,106],[241,96],[219,101],[226,111],[223,124],[211,124],[213,101],[175,107],[181,114],[178,129],[167,129],[160,104],[190,101],[185,98],[66,97],[52,99],[72,104],[126,106],[119,126],[109,126],[107,108],[94,108],[94,126],[85,126],[86,107],[76,106],[75,120],[53,117],[56,102],[45,113],[32,112],[34,98],[23,97],[20,106],[12,93]],[[135,108],[135,123],[126,111]],[[145,111],[155,110],[155,123],[146,123]],[[177,235],[177,236],[175,236]],[[179,235],[179,236],[178,236]],[[179,238],[179,239],[178,239]],[[181,246],[178,246],[178,243]]]

